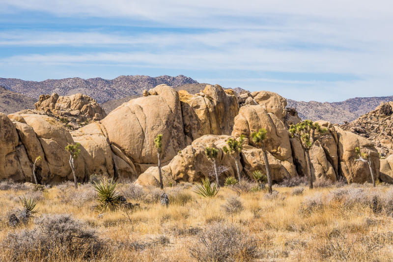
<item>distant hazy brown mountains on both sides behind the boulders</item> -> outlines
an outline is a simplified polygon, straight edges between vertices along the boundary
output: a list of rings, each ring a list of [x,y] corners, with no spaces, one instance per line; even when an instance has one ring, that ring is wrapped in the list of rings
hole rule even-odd
[[[179,75],[170,76],[119,76],[112,80],[102,78],[66,78],[45,80],[42,82],[24,81],[14,78],[0,78],[0,112],[13,113],[27,108],[34,108],[34,102],[41,94],[57,93],[71,95],[84,93],[96,99],[107,113],[132,98],[142,95],[144,89],[166,84],[176,90],[187,90],[192,94],[204,89],[206,84]],[[8,89],[8,90],[7,90]],[[234,88],[241,92],[243,88]],[[285,96],[285,94],[280,94]],[[393,96],[356,97],[342,102],[321,103],[287,99],[288,107],[294,107],[302,119],[327,120],[342,124],[372,111],[381,102],[393,101]]]

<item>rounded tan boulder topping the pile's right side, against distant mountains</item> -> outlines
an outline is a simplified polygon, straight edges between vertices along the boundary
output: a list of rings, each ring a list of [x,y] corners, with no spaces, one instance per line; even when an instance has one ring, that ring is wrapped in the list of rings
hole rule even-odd
[[[281,95],[269,91],[255,91],[251,95],[268,113],[276,115],[281,120],[285,117],[286,100]]]

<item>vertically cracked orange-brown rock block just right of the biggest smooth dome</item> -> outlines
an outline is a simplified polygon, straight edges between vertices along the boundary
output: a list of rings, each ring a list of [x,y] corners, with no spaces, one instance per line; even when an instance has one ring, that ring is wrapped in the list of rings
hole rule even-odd
[[[203,96],[179,91],[184,132],[190,143],[203,135],[230,135],[239,112],[239,99],[233,90],[206,85],[201,93]]]

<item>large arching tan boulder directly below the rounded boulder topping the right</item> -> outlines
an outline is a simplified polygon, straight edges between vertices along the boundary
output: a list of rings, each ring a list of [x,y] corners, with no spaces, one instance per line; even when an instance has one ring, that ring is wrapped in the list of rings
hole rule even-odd
[[[282,161],[290,176],[296,175],[293,165],[289,133],[285,129],[281,120],[261,106],[243,106],[239,110],[239,115],[235,117],[235,125],[232,135],[238,137],[241,134],[250,138],[253,132],[260,128],[265,128],[267,138],[266,149],[276,159]]]

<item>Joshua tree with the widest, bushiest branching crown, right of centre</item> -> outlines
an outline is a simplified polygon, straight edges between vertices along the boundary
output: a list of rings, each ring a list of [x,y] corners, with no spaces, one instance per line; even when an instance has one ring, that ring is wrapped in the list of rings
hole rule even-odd
[[[312,189],[313,186],[309,150],[322,135],[326,134],[326,132],[328,132],[327,128],[321,128],[318,123],[314,123],[311,120],[304,120],[303,122],[296,125],[291,125],[289,128],[289,133],[292,137],[295,137],[300,142],[300,145],[302,145],[302,148],[306,154],[310,189]]]

